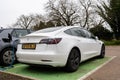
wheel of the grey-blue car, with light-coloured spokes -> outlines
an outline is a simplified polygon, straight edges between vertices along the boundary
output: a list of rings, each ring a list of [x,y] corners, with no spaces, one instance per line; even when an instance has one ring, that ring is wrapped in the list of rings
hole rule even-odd
[[[15,51],[13,48],[6,48],[0,54],[0,65],[9,66],[13,64],[16,60]]]

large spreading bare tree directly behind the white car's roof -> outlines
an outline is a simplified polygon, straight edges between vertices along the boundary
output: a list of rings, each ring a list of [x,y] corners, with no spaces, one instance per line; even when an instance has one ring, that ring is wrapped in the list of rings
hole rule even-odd
[[[59,0],[58,3],[49,0],[47,5],[51,19],[61,25],[70,26],[78,23],[78,8],[73,2]]]

